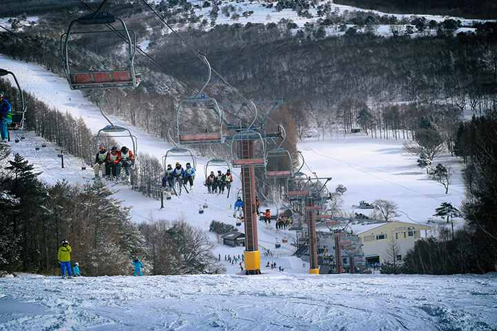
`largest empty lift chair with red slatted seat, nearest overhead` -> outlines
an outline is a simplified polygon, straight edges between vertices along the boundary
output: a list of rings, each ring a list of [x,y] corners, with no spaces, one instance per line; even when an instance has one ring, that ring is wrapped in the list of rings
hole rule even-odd
[[[66,77],[71,90],[81,90],[86,88],[136,88],[142,81],[140,74],[135,72],[135,67],[133,65],[136,52],[135,32],[133,30],[128,30],[124,21],[119,19],[119,17],[115,17],[109,12],[102,11],[102,8],[107,1],[108,0],[102,1],[99,8],[92,14],[88,14],[84,17],[79,17],[79,19],[71,21],[68,31],[61,35],[61,55],[64,60]],[[75,24],[80,26],[106,25],[110,28],[110,24],[115,23],[115,21],[120,23],[119,29],[111,28],[111,30],[73,31]],[[124,39],[126,44],[126,61],[123,61],[124,63],[119,63],[116,70],[72,70],[70,66],[72,57],[69,54],[70,37],[75,36],[76,34],[79,34],[80,36],[99,34],[101,36],[104,33],[119,34],[119,37]],[[130,33],[133,37],[130,36]]]

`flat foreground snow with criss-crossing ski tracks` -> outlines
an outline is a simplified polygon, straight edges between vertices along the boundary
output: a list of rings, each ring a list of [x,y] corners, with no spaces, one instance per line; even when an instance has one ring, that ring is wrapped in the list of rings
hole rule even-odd
[[[0,330],[497,330],[496,280],[271,272],[17,277],[0,279]],[[7,303],[25,308],[14,312]]]

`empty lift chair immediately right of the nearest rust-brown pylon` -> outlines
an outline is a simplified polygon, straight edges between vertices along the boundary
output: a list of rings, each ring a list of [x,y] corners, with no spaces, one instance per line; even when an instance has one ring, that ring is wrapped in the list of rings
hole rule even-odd
[[[293,177],[293,159],[290,152],[281,147],[286,138],[281,124],[278,124],[278,134],[282,137],[280,145],[266,153],[266,178]]]

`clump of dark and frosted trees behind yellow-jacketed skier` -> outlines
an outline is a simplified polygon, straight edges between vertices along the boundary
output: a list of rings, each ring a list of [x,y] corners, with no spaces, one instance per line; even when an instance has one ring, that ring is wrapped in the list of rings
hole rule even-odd
[[[58,274],[57,251],[66,239],[86,276],[131,274],[139,256],[146,274],[224,272],[213,243],[186,221],[153,220],[139,227],[129,208],[104,183],[82,188],[48,185],[19,154],[0,149],[0,270]]]

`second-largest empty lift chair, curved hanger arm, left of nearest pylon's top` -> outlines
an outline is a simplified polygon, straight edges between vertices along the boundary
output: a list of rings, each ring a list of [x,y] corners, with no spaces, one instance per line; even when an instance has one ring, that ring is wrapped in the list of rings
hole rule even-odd
[[[206,64],[208,75],[204,85],[197,94],[179,101],[176,112],[177,140],[180,144],[223,143],[223,115],[221,108],[214,98],[202,93],[211,80],[211,65],[208,63],[205,54],[198,53],[197,56]],[[198,115],[195,117],[195,120],[181,121],[180,123],[179,118],[183,119],[190,112]],[[199,117],[202,117],[204,121],[199,121]],[[195,126],[194,122],[198,123],[198,125]],[[206,129],[206,123],[213,123],[213,128]]]

